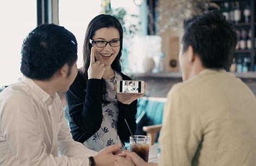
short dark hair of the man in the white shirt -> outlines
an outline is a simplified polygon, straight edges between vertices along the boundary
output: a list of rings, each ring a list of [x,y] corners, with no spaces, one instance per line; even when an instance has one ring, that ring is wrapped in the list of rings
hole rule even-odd
[[[49,80],[65,63],[77,60],[76,37],[64,27],[41,24],[28,34],[21,48],[21,72],[35,80]]]

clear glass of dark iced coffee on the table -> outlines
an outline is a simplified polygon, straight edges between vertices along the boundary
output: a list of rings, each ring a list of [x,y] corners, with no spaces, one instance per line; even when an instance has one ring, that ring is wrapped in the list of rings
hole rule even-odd
[[[130,136],[130,151],[136,152],[145,162],[149,160],[149,136]]]

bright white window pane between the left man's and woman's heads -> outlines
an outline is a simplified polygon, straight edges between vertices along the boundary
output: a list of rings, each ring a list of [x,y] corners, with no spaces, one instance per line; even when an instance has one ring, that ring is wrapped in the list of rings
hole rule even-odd
[[[72,3],[71,3],[72,2]],[[78,44],[77,67],[82,67],[83,40],[89,22],[100,13],[101,0],[59,0],[59,25],[71,31]]]

